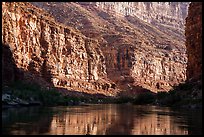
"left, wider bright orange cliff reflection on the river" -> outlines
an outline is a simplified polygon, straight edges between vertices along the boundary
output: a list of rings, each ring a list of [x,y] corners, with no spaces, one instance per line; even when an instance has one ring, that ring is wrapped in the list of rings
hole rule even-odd
[[[67,108],[67,113],[53,117],[50,134],[105,134],[117,120],[115,105],[71,107]]]

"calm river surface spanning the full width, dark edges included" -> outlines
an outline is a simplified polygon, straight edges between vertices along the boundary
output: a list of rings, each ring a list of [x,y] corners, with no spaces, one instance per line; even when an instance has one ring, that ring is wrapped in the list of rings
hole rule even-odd
[[[9,135],[197,135],[201,110],[129,104],[22,107],[2,110]]]

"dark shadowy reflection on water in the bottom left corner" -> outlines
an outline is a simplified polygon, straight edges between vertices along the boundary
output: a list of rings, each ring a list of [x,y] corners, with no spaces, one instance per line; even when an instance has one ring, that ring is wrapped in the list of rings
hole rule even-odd
[[[49,108],[10,108],[2,111],[2,133],[11,135],[43,134],[49,131],[52,114]]]

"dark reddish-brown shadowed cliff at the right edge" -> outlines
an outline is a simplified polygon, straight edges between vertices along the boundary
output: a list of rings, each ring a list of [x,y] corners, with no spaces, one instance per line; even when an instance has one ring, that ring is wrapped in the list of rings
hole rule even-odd
[[[202,3],[192,2],[186,18],[187,79],[202,77]]]

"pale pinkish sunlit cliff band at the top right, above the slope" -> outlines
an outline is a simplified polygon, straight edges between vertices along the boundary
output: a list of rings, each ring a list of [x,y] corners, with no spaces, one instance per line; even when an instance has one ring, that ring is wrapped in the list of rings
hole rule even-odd
[[[182,2],[96,2],[96,6],[121,16],[137,16],[139,19],[159,25],[184,28],[188,3]]]

